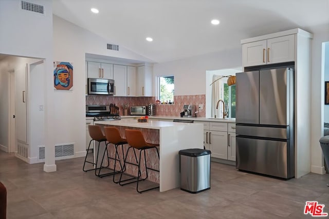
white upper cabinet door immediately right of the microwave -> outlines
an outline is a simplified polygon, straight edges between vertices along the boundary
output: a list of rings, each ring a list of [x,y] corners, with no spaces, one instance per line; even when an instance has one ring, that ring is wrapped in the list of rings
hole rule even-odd
[[[127,95],[127,66],[113,65],[114,95]]]

